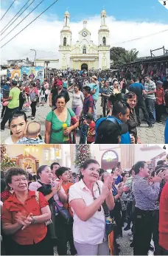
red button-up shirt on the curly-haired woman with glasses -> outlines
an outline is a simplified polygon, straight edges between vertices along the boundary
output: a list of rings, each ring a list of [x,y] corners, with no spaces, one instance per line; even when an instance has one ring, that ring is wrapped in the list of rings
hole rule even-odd
[[[1,219],[2,222],[8,224],[15,224],[15,214],[22,212],[23,215],[28,216],[30,212],[32,215],[41,215],[41,208],[49,205],[43,194],[39,192],[39,202],[35,199],[35,191],[29,190],[27,200],[24,204],[18,200],[13,193],[3,204]],[[29,245],[39,243],[46,237],[46,225],[44,223],[30,224],[24,230],[19,229],[13,234],[13,240],[21,245]]]

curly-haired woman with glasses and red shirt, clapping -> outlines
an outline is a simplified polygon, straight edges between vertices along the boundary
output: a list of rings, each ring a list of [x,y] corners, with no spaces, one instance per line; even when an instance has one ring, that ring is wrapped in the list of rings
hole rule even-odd
[[[14,192],[3,204],[2,229],[13,235],[13,255],[51,255],[45,224],[51,218],[48,202],[42,193],[28,189],[23,169],[11,167],[5,178]]]

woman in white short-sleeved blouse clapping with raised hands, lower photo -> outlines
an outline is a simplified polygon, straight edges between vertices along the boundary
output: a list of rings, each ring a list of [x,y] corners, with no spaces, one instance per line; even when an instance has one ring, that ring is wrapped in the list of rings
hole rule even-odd
[[[109,255],[108,238],[105,232],[105,201],[108,210],[113,210],[111,192],[113,178],[99,181],[99,163],[86,160],[81,169],[82,179],[69,188],[69,203],[74,213],[74,246],[77,255]]]

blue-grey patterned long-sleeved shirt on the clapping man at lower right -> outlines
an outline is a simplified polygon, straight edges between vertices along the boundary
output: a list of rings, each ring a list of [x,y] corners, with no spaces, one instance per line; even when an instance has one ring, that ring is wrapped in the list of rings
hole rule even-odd
[[[136,175],[134,178],[133,193],[136,207],[141,210],[155,210],[155,201],[160,193],[160,183],[150,185],[147,179]]]

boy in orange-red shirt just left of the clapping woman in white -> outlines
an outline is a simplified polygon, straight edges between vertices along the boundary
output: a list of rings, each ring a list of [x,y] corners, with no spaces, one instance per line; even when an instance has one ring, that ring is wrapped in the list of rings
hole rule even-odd
[[[63,190],[65,191],[66,195],[68,196],[68,201],[69,201],[69,187],[71,187],[71,185],[73,185],[73,183],[69,182],[69,168],[68,167],[60,167],[55,171],[55,174],[57,175],[57,177],[60,179],[60,181],[62,181],[62,187]],[[65,238],[66,241],[69,241],[69,245],[70,245],[70,251],[71,251],[71,255],[77,255],[77,251],[74,247],[74,238],[73,238],[73,232],[72,232],[72,228],[73,228],[73,213],[71,211],[71,207],[69,205],[69,203],[65,203],[63,204],[63,206],[69,210],[69,213],[71,215],[71,223],[67,224],[65,226],[66,228],[66,235],[67,237]]]

